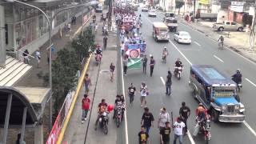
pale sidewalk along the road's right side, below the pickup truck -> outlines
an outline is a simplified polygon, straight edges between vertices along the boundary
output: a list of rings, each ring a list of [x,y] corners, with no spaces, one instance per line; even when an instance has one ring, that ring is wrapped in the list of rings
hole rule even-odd
[[[248,32],[238,32],[238,31],[214,31],[212,29],[212,22],[186,22],[183,18],[179,18],[180,22],[185,25],[191,26],[194,30],[198,30],[202,34],[205,34],[206,37],[218,41],[219,35],[222,34],[225,38],[224,45],[229,47],[230,50],[234,50],[238,54],[249,58],[251,61],[256,62],[256,51],[254,44],[254,51],[250,51],[250,33]]]

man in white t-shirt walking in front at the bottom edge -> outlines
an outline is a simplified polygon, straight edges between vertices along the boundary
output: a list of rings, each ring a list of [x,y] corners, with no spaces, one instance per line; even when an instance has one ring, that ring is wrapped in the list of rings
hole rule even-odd
[[[179,144],[182,144],[183,139],[183,128],[185,127],[185,123],[182,122],[182,118],[177,118],[177,121],[174,122],[173,128],[174,128],[174,144],[176,144],[176,141],[178,139]]]

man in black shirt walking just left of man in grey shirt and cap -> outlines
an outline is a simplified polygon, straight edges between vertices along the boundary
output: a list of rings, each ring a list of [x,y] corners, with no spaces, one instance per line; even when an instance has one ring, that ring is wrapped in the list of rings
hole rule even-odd
[[[150,113],[150,109],[148,107],[144,108],[144,113],[142,115],[141,125],[146,128],[146,133],[150,134],[150,127],[154,127],[154,116]]]

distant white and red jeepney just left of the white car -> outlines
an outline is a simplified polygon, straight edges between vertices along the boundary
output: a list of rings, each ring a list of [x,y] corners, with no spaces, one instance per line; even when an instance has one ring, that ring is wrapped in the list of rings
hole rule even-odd
[[[168,27],[163,22],[153,22],[153,38],[156,42],[167,41],[169,42]]]

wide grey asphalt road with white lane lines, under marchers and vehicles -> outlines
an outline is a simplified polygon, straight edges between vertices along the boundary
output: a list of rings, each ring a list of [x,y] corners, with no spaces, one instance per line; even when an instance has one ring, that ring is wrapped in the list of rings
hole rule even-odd
[[[186,26],[181,22],[178,23],[178,30],[185,30],[190,33],[192,43],[190,45],[182,45],[174,42],[173,34],[170,33],[170,42],[155,42],[152,37],[152,22],[162,22],[163,15],[158,14],[157,18],[149,18],[147,13],[142,14],[143,26],[142,34],[146,39],[146,54],[153,54],[156,60],[153,77],[147,74],[142,74],[142,70],[128,70],[128,74],[124,77],[126,90],[130,86],[130,82],[134,83],[139,89],[141,82],[146,82],[150,90],[150,95],[147,97],[147,106],[154,115],[154,128],[150,130],[150,143],[159,143],[159,134],[157,128],[157,119],[162,106],[170,113],[173,111],[174,119],[178,116],[178,110],[182,102],[186,102],[190,106],[192,114],[188,120],[189,130],[193,131],[194,110],[198,106],[198,102],[192,98],[190,87],[188,86],[190,65],[191,64],[210,64],[221,70],[226,75],[234,74],[238,68],[242,70],[243,87],[240,92],[241,102],[246,106],[246,122],[241,124],[235,123],[214,123],[212,122],[210,143],[213,144],[241,144],[254,143],[256,141],[256,130],[254,101],[256,100],[256,66],[253,62],[242,58],[231,50],[218,50],[217,42],[214,42],[205,35],[200,34],[197,30],[193,30],[190,26]],[[167,46],[169,56],[167,63],[162,63],[162,49]],[[174,70],[174,62],[177,58],[181,58],[185,69],[182,71],[182,79],[178,81],[173,78],[172,95],[166,96],[165,86],[162,79],[166,79],[167,70]],[[149,69],[149,66],[147,67]],[[142,118],[143,109],[139,102],[140,94],[136,94],[134,106],[127,108],[127,124],[129,143],[138,143],[138,132],[140,130],[140,121]],[[128,101],[128,99],[127,99]],[[174,138],[171,135],[171,140]],[[204,143],[202,135],[196,138],[184,137],[184,143]]]

